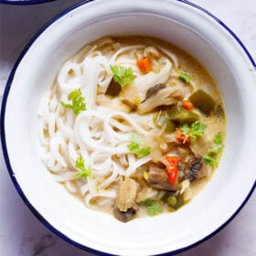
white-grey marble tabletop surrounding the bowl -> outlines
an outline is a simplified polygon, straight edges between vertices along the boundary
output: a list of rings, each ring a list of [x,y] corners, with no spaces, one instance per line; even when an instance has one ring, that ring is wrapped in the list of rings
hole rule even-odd
[[[0,5],[0,96],[21,50],[51,17],[79,0],[58,0],[43,5]],[[256,0],[191,0],[218,16],[256,59]],[[2,97],[1,97],[2,98]],[[255,106],[254,106],[255,107]],[[254,134],[255,136],[255,134]],[[242,170],[241,170],[242,171]],[[256,255],[255,192],[229,225],[210,240],[180,256]],[[30,212],[8,175],[0,150],[0,255],[85,256],[44,227]]]

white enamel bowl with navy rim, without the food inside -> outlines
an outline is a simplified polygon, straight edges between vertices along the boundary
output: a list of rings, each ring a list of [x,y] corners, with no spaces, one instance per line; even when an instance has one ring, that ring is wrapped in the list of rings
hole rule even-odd
[[[159,37],[186,49],[219,84],[227,141],[219,169],[186,207],[122,223],[86,208],[48,177],[39,158],[37,108],[60,65],[109,35]],[[1,115],[5,162],[27,206],[49,229],[94,253],[153,255],[206,240],[239,212],[255,188],[256,72],[249,52],[216,17],[187,1],[85,1],[44,27],[7,82]]]

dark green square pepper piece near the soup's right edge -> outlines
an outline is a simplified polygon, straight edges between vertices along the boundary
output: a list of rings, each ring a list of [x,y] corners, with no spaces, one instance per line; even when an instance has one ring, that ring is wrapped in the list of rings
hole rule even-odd
[[[216,101],[206,92],[201,89],[192,93],[188,101],[192,102],[200,111],[210,114],[216,108]]]

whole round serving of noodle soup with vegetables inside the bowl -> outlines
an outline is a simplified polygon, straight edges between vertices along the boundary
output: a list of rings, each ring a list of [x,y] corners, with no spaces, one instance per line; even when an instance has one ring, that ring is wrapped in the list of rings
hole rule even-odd
[[[59,69],[38,110],[42,160],[123,222],[172,212],[208,183],[226,117],[208,71],[152,37],[103,37]]]

